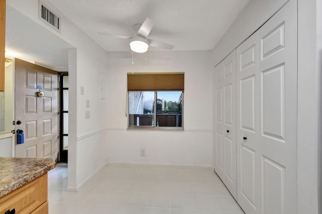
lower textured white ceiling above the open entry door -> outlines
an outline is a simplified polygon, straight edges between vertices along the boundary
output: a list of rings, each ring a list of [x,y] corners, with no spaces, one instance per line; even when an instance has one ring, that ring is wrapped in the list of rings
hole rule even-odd
[[[20,58],[66,71],[70,44],[7,5],[6,57]]]

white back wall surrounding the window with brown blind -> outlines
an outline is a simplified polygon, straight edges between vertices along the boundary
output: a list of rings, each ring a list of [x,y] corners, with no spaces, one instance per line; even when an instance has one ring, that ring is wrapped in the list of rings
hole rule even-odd
[[[184,131],[126,130],[126,53],[108,54],[109,162],[212,165],[212,68],[210,51],[163,51],[134,55],[134,72],[185,72]],[[140,149],[146,156],[140,156]]]

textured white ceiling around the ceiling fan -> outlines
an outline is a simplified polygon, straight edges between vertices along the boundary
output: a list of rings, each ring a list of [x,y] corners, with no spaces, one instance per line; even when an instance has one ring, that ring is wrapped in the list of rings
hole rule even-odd
[[[211,50],[249,0],[49,0],[106,51],[129,51],[134,24],[154,20],[150,39],[175,51]],[[149,47],[149,51],[163,49]]]

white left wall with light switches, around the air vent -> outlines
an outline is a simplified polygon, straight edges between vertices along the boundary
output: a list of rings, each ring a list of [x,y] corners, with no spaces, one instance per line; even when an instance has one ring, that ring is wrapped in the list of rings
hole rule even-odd
[[[105,134],[102,130],[107,124],[106,105],[99,104],[97,91],[100,89],[98,72],[106,72],[107,54],[48,0],[42,2],[61,17],[61,33],[38,19],[38,0],[8,0],[7,4],[75,47],[68,52],[68,56],[73,58],[69,61],[72,64],[68,64],[68,69],[70,69],[69,116],[71,116],[68,141],[68,189],[76,191],[84,180],[105,164],[104,158],[93,157],[97,157],[102,151],[102,146],[105,146]],[[85,87],[84,95],[80,94],[81,86]],[[89,109],[86,109],[87,99],[90,100]],[[90,119],[85,119],[85,111],[91,112]]]

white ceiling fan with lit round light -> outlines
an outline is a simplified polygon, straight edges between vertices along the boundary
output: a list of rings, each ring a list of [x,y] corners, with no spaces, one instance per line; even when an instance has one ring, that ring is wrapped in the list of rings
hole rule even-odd
[[[138,26],[140,26],[140,28],[136,30]],[[174,48],[173,45],[169,45],[169,44],[148,38],[148,35],[151,32],[153,26],[154,26],[154,21],[151,20],[150,18],[146,18],[142,25],[141,24],[134,25],[134,30],[136,32],[132,37],[120,36],[120,35],[102,33],[102,32],[99,32],[99,34],[108,35],[108,36],[112,35],[112,36],[117,36],[124,39],[130,39],[130,48],[132,51],[137,53],[146,52],[149,46],[172,50]]]

